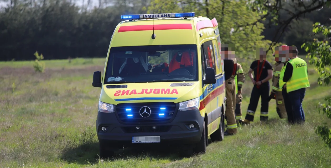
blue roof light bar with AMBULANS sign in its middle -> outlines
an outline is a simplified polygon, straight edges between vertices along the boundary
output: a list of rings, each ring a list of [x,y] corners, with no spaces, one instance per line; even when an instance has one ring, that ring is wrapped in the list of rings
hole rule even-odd
[[[171,13],[171,14],[139,14],[122,15],[121,19],[155,19],[155,18],[176,18],[176,17],[194,17],[194,12],[189,13]]]

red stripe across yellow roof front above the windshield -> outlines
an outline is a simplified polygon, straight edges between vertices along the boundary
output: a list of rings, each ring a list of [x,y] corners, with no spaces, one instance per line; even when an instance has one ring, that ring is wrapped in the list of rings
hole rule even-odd
[[[154,30],[178,30],[178,29],[187,29],[192,30],[191,23],[185,24],[154,24]],[[121,26],[118,29],[118,32],[127,32],[127,31],[145,31],[153,30],[153,24],[149,25],[134,25],[134,26]]]

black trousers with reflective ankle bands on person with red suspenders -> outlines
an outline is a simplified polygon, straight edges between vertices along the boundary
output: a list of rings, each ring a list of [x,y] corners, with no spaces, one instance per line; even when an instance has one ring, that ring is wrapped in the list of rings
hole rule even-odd
[[[245,119],[253,121],[254,120],[254,114],[256,111],[256,108],[258,107],[259,99],[261,96],[261,116],[260,120],[268,120],[268,109],[269,109],[269,90],[270,85],[269,82],[266,82],[264,84],[260,85],[260,88],[256,87],[257,85],[254,85],[251,99],[248,105],[247,109],[247,115]]]

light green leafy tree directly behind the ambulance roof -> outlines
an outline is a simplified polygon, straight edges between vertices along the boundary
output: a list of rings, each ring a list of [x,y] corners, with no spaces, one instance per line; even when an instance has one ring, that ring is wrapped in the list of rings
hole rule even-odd
[[[262,23],[255,26],[245,25],[245,20],[256,21],[260,14],[246,8],[244,0],[152,0],[148,7],[148,13],[176,13],[195,12],[196,16],[204,16],[218,21],[222,44],[235,44],[236,57],[244,68],[256,59],[256,49],[268,47],[271,41],[263,40],[261,32],[264,29]],[[269,57],[269,59],[273,59]]]

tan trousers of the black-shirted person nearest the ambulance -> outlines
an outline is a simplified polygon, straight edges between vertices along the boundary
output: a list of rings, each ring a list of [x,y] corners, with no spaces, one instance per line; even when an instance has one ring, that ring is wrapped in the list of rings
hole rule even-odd
[[[236,105],[236,85],[234,79],[230,78],[225,81],[226,88],[226,110],[225,117],[227,122],[227,132],[230,134],[237,133],[237,122],[235,117]]]

